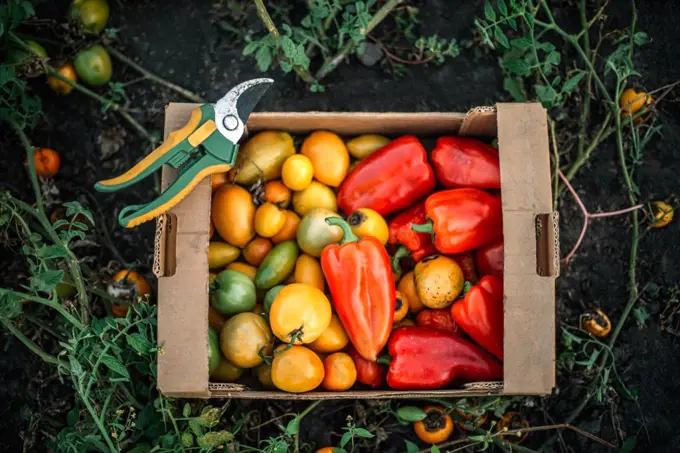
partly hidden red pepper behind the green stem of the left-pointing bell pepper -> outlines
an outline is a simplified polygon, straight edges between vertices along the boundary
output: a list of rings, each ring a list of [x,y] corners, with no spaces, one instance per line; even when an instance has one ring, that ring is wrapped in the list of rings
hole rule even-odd
[[[411,229],[411,225],[427,222],[425,203],[417,203],[401,212],[390,222],[390,244],[401,244],[411,253],[416,263],[426,256],[434,255],[437,249],[432,243],[432,235],[418,233]],[[403,252],[398,257],[404,256]]]

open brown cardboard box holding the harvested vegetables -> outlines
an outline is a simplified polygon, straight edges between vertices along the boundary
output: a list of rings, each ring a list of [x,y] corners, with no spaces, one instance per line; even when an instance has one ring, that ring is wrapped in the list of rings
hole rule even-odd
[[[194,104],[170,104],[165,133],[189,119]],[[354,390],[291,394],[208,380],[208,179],[159,218],[154,272],[158,279],[158,388],[196,398],[352,399],[548,394],[555,385],[557,214],[552,212],[546,112],[539,104],[497,104],[464,113],[253,113],[248,130],[293,134],[326,129],[419,137],[498,137],[505,237],[505,361],[502,383],[436,391]],[[163,170],[163,187],[174,178]]]

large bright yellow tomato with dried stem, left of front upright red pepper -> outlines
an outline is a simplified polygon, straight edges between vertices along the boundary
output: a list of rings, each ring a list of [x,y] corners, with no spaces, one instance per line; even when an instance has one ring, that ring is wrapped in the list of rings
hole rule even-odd
[[[311,343],[331,323],[331,303],[317,288],[293,283],[274,298],[269,323],[274,335],[285,343]]]

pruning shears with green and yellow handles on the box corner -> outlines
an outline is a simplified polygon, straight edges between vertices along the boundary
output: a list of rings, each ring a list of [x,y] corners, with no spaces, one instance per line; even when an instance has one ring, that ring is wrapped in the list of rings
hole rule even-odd
[[[132,228],[167,212],[182,201],[206,176],[230,170],[236,162],[238,142],[250,113],[272,79],[243,82],[215,104],[203,104],[191,112],[189,122],[171,132],[161,146],[122,175],[99,181],[95,189],[115,192],[127,188],[167,164],[179,169],[177,179],[155,200],[125,207],[118,223]]]

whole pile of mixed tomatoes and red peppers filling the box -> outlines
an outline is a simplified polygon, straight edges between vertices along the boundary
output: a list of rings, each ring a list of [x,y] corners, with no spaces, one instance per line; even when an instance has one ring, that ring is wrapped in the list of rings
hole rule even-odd
[[[428,156],[413,136],[317,131],[298,153],[265,131],[213,188],[212,379],[253,368],[289,392],[502,379],[495,148],[442,137]]]

